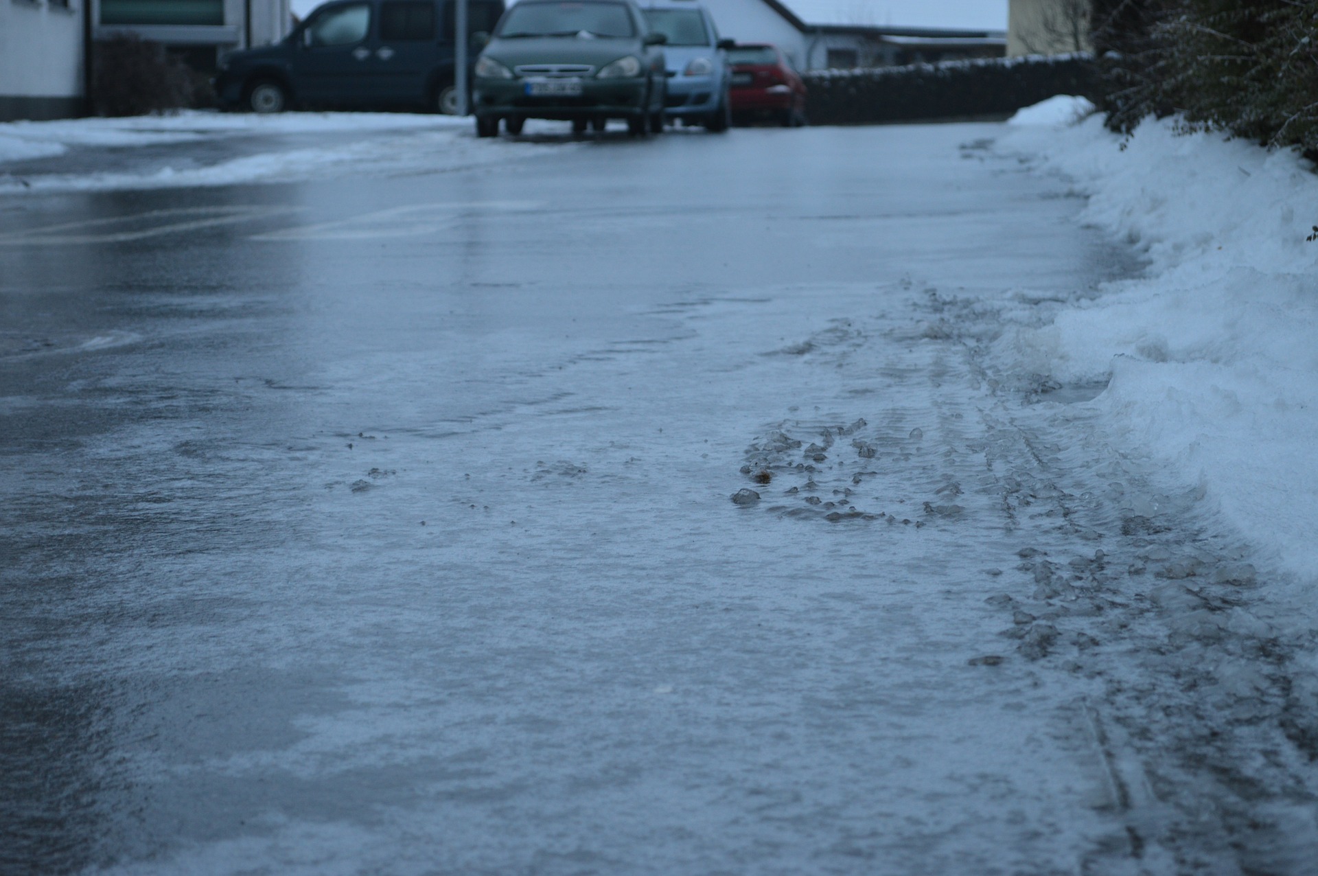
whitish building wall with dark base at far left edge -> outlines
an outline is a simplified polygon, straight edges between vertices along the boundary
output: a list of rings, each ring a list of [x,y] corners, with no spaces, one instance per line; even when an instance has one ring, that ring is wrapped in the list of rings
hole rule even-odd
[[[82,112],[87,1],[0,0],[0,120]]]

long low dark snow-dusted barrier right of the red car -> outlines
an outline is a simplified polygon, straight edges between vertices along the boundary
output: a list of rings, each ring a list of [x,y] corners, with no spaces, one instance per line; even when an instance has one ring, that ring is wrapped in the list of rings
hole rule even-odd
[[[815,125],[1006,117],[1054,95],[1101,96],[1087,54],[816,70],[804,79]]]

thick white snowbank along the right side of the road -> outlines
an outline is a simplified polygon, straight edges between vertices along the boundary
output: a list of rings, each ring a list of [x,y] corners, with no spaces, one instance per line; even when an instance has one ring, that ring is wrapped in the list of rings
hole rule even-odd
[[[1318,577],[1318,175],[1292,151],[1147,121],[1036,111],[998,141],[1089,195],[1082,220],[1148,269],[1019,329],[1014,353],[1061,385],[1110,381],[1101,406],[1128,452],[1197,482],[1304,582]],[[1043,124],[1031,124],[1039,121]],[[1025,123],[1025,124],[1019,124]]]

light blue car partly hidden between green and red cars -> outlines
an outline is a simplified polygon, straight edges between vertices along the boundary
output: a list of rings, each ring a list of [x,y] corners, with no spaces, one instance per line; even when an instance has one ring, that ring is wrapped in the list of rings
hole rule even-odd
[[[713,132],[728,130],[731,74],[726,50],[735,42],[720,40],[709,11],[691,0],[652,0],[645,13],[650,26],[667,37],[668,119]]]

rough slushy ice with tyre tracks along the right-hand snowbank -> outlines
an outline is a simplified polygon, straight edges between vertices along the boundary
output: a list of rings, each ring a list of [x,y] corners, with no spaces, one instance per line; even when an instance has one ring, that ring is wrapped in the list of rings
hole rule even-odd
[[[745,489],[763,511],[859,537],[1010,551],[983,572],[1007,653],[975,660],[1083,692],[1069,721],[1123,830],[1082,872],[1310,872],[1313,636],[1269,622],[1248,545],[1197,490],[1114,449],[1097,408],[1050,400],[1093,387],[1012,370],[999,339],[1028,307],[925,290],[904,315],[837,320],[775,352],[833,369],[838,391],[764,425]]]

